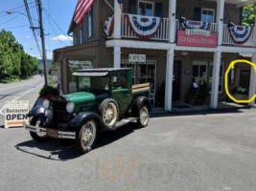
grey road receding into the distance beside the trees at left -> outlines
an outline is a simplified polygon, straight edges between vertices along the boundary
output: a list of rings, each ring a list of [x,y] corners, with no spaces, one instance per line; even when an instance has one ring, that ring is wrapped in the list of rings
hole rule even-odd
[[[43,84],[43,77],[35,75],[34,77],[12,84],[0,84],[0,115],[4,113],[6,101],[17,99],[20,96],[29,94],[35,88]]]

